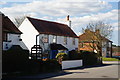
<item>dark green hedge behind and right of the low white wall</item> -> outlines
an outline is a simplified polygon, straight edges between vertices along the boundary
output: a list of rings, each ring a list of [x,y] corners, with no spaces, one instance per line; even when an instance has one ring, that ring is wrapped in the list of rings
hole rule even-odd
[[[69,52],[69,60],[80,60],[80,59],[83,60],[84,66],[102,64],[101,57],[94,52],[89,52],[89,51],[77,52],[75,50]]]

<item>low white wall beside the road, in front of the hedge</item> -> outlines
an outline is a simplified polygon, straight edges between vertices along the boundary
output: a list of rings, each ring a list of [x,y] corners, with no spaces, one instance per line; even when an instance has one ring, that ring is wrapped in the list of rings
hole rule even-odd
[[[75,68],[83,66],[82,60],[62,61],[62,69]]]

